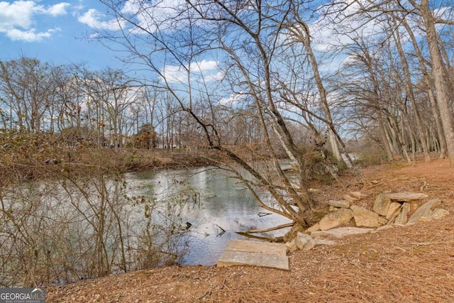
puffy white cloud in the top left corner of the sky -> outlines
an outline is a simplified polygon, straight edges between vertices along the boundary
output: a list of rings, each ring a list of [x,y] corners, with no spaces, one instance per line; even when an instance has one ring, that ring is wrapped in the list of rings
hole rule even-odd
[[[70,6],[61,2],[52,6],[38,5],[38,1],[13,1],[11,3],[0,1],[0,33],[4,33],[12,40],[26,42],[40,41],[50,38],[58,28],[36,32],[32,28],[35,16],[50,15],[52,17],[65,15]]]

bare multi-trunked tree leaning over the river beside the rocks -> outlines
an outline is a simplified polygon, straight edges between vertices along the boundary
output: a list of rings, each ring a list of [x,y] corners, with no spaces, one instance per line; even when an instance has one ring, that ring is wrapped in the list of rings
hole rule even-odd
[[[118,26],[99,35],[103,43],[118,43],[156,75],[153,86],[172,94],[260,206],[305,225],[316,210],[308,191],[314,167],[346,185],[333,168],[345,146],[311,45],[311,1],[101,2]],[[254,121],[260,141],[238,144],[229,129],[239,121]]]

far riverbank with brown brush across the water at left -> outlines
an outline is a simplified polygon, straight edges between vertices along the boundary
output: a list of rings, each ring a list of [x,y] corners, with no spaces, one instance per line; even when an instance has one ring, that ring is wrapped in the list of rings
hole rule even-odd
[[[89,170],[124,173],[201,167],[211,164],[214,153],[200,150],[187,153],[180,150],[138,148],[70,148],[61,145],[22,143],[5,148],[0,146],[0,184],[20,184],[24,181],[60,179],[62,174],[86,174]],[[63,176],[64,177],[64,176]]]

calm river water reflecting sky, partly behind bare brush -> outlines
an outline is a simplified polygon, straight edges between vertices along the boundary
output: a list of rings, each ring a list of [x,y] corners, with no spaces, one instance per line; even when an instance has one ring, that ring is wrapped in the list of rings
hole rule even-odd
[[[2,189],[0,200],[0,285],[9,287],[214,265],[229,241],[245,238],[236,231],[289,221],[259,216],[266,211],[244,184],[214,167],[24,182]]]

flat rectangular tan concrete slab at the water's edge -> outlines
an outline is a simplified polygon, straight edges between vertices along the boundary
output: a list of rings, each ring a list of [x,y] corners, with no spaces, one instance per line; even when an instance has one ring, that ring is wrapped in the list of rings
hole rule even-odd
[[[281,243],[233,240],[216,266],[253,265],[289,270],[287,247]]]

